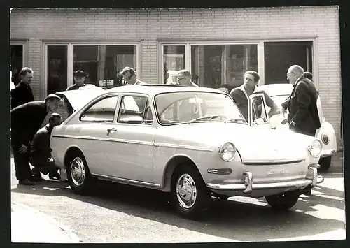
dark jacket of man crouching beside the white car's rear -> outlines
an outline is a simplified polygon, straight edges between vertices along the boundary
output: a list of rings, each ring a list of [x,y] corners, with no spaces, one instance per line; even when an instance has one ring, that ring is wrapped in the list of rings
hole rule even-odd
[[[33,141],[31,142],[31,157],[33,159],[45,161],[51,157],[51,131],[50,124],[47,124],[36,132]]]

